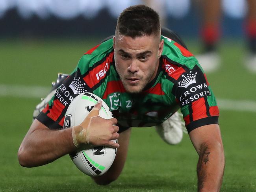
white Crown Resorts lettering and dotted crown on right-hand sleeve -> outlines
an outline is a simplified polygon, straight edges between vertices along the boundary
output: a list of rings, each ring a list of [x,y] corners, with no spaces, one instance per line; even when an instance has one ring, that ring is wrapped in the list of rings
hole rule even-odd
[[[183,74],[182,79],[178,82],[178,89],[182,89],[182,94],[179,96],[182,106],[211,95],[205,79],[197,80],[197,75],[197,72],[189,71],[188,74]]]

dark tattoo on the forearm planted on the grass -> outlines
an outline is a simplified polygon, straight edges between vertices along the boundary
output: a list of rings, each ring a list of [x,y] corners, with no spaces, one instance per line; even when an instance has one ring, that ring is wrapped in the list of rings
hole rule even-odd
[[[199,147],[199,159],[197,163],[197,177],[198,177],[198,190],[204,187],[204,181],[206,179],[206,171],[203,166],[209,161],[208,145],[204,142]]]

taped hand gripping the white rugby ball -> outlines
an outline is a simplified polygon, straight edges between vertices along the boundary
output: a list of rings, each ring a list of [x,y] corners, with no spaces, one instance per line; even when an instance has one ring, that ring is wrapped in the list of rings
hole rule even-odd
[[[119,127],[116,118],[104,119],[99,116],[102,102],[96,103],[91,112],[85,117],[79,126],[72,127],[73,143],[76,147],[81,144],[94,146],[109,146],[119,148],[119,144],[113,142],[119,137]]]

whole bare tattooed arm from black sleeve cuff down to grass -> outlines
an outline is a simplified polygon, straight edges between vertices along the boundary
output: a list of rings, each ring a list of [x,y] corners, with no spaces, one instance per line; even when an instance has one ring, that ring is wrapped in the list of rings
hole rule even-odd
[[[198,191],[217,192],[224,173],[224,150],[219,125],[198,127],[189,137],[199,155],[197,163]]]

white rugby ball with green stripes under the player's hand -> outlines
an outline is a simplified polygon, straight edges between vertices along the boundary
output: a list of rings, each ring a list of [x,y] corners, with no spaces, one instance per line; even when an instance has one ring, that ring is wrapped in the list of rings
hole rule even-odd
[[[98,100],[102,101],[102,107],[99,112],[100,117],[105,119],[113,118],[108,105],[101,98],[95,94],[86,92],[76,96],[70,103],[65,114],[64,128],[77,126],[82,123]],[[117,139],[113,141],[117,142]],[[116,153],[117,149],[106,146],[93,147],[85,144],[83,148],[69,155],[80,171],[89,176],[100,176],[110,168]]]

